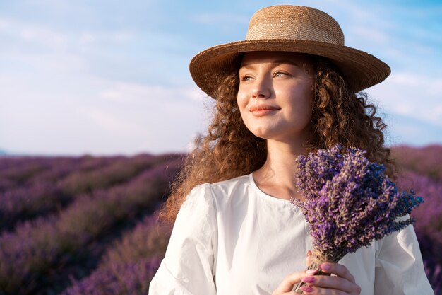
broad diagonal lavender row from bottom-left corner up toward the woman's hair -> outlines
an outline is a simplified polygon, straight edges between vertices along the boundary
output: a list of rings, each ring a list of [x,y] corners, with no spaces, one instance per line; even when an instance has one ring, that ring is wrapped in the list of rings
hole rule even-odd
[[[0,236],[0,290],[5,294],[62,291],[66,287],[63,280],[83,272],[76,269],[81,262],[76,260],[94,257],[97,241],[109,239],[116,227],[133,223],[162,202],[181,160],[163,162],[145,167],[126,183],[83,193],[60,212],[4,231]]]

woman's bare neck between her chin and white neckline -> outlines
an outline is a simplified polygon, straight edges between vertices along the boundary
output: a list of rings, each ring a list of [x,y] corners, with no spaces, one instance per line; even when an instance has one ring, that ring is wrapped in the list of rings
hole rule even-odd
[[[258,187],[268,195],[280,199],[302,198],[297,192],[294,174],[297,171],[295,159],[304,153],[302,144],[268,140],[267,160],[253,173]]]

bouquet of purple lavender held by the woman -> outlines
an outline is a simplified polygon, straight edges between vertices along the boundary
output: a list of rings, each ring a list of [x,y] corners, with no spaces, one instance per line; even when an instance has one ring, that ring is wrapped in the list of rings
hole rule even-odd
[[[310,226],[310,269],[318,269],[321,262],[338,262],[347,253],[404,229],[413,219],[398,217],[423,202],[414,192],[399,191],[384,174],[384,166],[371,163],[364,154],[337,144],[297,158],[297,185],[305,199],[292,202]]]

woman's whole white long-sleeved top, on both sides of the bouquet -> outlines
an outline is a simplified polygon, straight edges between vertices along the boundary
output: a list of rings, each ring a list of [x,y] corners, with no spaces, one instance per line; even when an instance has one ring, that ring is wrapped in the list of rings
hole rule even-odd
[[[313,250],[297,207],[253,175],[195,187],[182,205],[150,295],[271,294]],[[412,226],[340,260],[362,295],[434,294]]]

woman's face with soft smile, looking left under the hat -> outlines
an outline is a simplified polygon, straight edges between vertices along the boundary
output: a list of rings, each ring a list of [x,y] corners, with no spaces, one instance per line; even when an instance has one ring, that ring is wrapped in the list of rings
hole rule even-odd
[[[313,70],[305,54],[247,52],[237,103],[246,127],[263,139],[299,141],[309,132]]]

